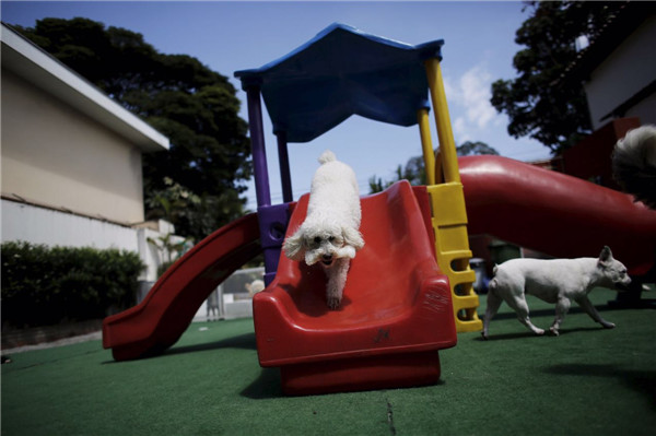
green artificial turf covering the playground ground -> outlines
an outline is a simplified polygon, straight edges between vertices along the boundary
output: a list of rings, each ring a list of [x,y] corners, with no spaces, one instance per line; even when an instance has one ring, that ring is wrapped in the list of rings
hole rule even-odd
[[[641,435],[656,428],[656,311],[573,306],[534,337],[507,306],[489,341],[460,333],[435,386],[284,397],[250,319],[192,323],[166,354],[116,363],[99,341],[12,355],[2,435]],[[484,296],[481,309],[484,310]],[[529,299],[548,328],[553,306]]]

